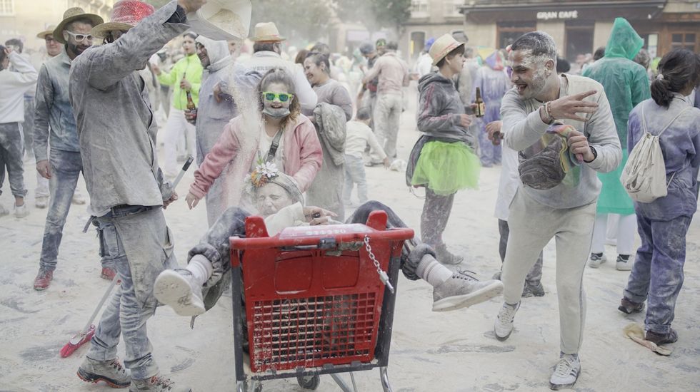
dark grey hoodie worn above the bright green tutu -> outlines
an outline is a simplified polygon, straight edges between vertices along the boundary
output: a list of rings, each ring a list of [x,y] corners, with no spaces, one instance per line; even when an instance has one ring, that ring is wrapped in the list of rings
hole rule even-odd
[[[428,73],[418,82],[418,91],[418,130],[434,138],[460,140],[476,150],[476,134],[459,125],[459,115],[465,113],[454,81],[439,72]]]

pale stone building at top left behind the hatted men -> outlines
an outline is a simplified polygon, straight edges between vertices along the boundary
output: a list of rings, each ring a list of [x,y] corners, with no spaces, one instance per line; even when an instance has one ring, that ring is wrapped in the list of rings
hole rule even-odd
[[[36,34],[51,24],[59,24],[66,9],[81,7],[109,21],[116,0],[0,0],[0,43],[20,38],[24,46],[39,50],[44,42]]]

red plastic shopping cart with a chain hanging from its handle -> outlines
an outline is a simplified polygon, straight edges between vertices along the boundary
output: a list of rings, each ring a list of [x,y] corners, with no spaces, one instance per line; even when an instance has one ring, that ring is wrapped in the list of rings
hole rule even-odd
[[[375,211],[366,225],[288,227],[275,237],[261,217],[246,219],[246,238],[230,239],[237,391],[293,377],[313,390],[321,374],[352,391],[339,373],[355,388],[351,372],[377,367],[391,391],[394,287],[414,231],[386,229],[386,219]]]

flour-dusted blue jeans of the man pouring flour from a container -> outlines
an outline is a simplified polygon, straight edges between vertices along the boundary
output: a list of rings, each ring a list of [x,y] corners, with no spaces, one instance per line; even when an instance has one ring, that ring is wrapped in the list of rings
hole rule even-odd
[[[96,361],[114,359],[121,336],[126,351],[124,365],[136,380],[158,373],[158,366],[151,358],[146,321],[156,311],[157,301],[152,295],[155,277],[165,267],[176,267],[161,207],[146,208],[123,207],[95,221],[101,231],[101,253],[103,257],[114,259],[121,285],[104,309],[87,353],[88,358]],[[139,249],[144,245],[149,249]],[[154,257],[157,260],[151,263]],[[138,293],[139,287],[142,289],[144,285],[151,289],[145,298]]]

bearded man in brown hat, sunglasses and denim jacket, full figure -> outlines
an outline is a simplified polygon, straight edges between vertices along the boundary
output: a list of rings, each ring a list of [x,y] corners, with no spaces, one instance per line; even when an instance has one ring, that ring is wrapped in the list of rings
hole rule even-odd
[[[34,116],[34,155],[36,170],[49,180],[51,202],[44,226],[39,273],[34,279],[35,290],[45,290],[54,279],[59,257],[63,227],[71,208],[78,176],[83,170],[73,108],[68,97],[71,62],[92,46],[90,30],[103,22],[100,16],[86,14],[74,7],[64,13],[64,19],[53,38],[64,43],[64,50],[41,66],[36,83],[36,113]],[[50,142],[49,142],[50,140]],[[50,151],[47,153],[47,150]],[[104,264],[102,277],[114,278],[114,269]]]

